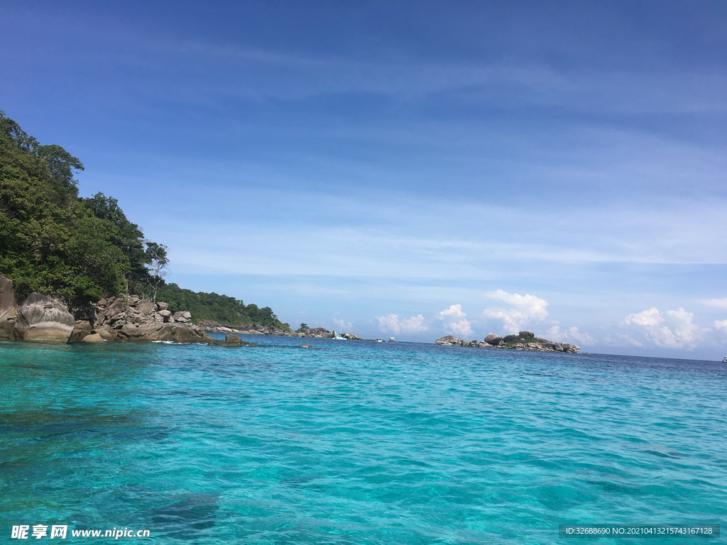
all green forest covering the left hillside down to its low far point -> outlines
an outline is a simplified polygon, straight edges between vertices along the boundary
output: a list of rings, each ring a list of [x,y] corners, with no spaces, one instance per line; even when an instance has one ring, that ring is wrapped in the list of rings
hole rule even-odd
[[[193,319],[286,327],[270,307],[164,285],[166,247],[148,241],[115,198],[79,198],[78,158],[40,145],[0,110],[0,274],[20,299],[33,291],[72,309],[103,296],[137,294],[188,310]]]

